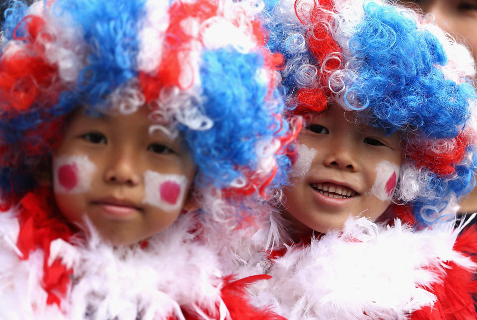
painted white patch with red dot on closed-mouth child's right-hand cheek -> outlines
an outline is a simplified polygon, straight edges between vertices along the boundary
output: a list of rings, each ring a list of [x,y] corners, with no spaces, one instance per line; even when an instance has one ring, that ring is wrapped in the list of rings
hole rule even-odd
[[[188,180],[183,175],[166,175],[148,170],[144,173],[145,197],[143,203],[166,212],[181,209]]]

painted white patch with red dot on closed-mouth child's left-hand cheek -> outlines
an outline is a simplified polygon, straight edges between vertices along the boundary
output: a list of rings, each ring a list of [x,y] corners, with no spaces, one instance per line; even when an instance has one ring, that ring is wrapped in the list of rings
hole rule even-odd
[[[86,156],[53,159],[53,184],[58,193],[81,193],[91,189],[96,166]]]

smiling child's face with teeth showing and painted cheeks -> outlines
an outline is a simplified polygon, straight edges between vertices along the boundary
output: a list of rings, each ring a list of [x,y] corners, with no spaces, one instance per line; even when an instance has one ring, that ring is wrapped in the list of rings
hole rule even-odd
[[[284,214],[298,231],[326,233],[350,216],[379,217],[391,203],[402,162],[399,136],[356,124],[331,106],[307,120],[284,190]]]

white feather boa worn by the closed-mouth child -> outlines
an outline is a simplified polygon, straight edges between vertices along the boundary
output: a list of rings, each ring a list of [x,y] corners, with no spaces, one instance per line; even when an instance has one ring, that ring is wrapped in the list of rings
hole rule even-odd
[[[191,234],[197,220],[182,215],[172,226],[139,245],[113,248],[92,235],[88,247],[55,240],[49,263],[61,258],[74,269],[61,310],[46,304],[41,287],[43,253],[18,258],[14,212],[0,214],[0,319],[182,319],[180,307],[226,319],[217,255]],[[217,308],[220,309],[220,315]],[[208,319],[204,317],[205,319]]]

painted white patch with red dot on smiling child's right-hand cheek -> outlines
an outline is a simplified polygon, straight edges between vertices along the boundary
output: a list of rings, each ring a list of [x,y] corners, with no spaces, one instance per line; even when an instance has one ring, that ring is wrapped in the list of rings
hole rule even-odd
[[[399,175],[399,166],[389,161],[381,161],[374,171],[376,180],[371,188],[371,194],[382,201],[392,199]]]

